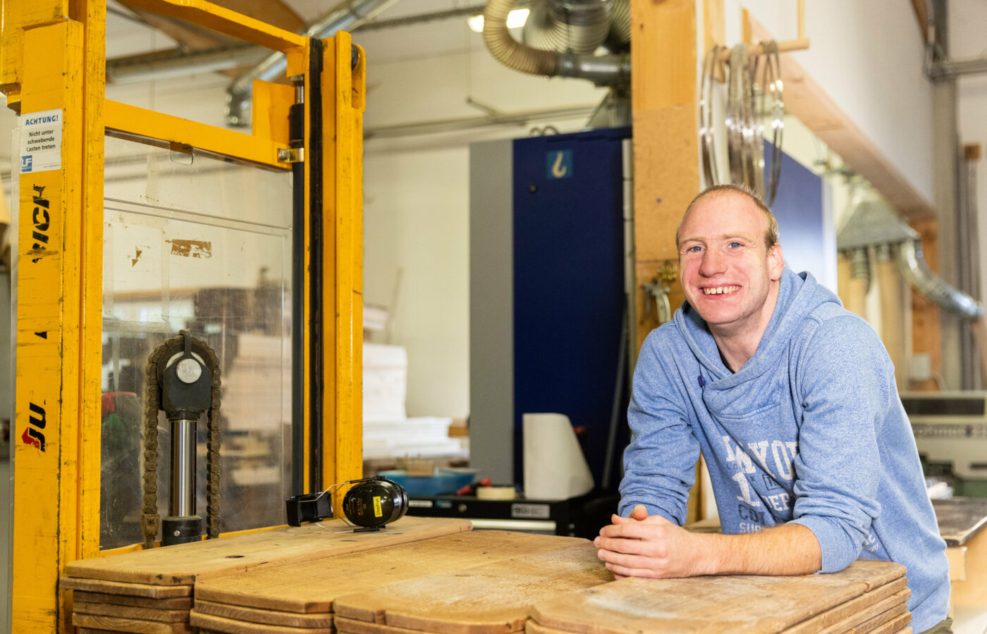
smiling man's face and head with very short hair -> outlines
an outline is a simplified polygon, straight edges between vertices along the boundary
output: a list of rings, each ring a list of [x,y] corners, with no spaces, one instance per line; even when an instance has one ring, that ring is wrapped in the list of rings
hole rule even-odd
[[[760,335],[771,320],[784,260],[764,246],[767,226],[752,200],[725,192],[696,201],[679,228],[685,297],[715,334]]]

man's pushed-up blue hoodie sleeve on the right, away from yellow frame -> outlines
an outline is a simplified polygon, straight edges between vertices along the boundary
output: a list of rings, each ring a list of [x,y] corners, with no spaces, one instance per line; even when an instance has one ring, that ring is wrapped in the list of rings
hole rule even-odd
[[[853,316],[824,321],[801,354],[794,522],[818,539],[822,572],[837,572],[860,555],[880,514],[877,449],[896,398],[894,369],[873,329]]]

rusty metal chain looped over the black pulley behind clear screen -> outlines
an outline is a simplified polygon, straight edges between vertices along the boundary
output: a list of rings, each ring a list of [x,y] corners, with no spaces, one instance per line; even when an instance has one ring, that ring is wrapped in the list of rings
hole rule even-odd
[[[221,405],[219,358],[205,341],[191,337],[191,347],[201,355],[212,373],[212,402],[206,422],[205,458],[205,526],[209,539],[219,536],[219,409]],[[158,367],[167,363],[174,354],[185,350],[185,337],[178,335],[166,339],[151,352],[147,359],[147,383],[144,398],[144,502],[140,514],[140,528],[144,535],[144,548],[153,548],[161,516],[158,514],[158,410],[161,390],[158,388]]]

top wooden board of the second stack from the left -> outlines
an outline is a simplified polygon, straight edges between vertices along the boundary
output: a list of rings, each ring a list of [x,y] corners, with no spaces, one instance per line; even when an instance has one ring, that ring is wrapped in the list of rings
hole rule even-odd
[[[283,612],[329,612],[333,600],[343,595],[584,542],[506,530],[460,532],[341,555],[332,561],[314,559],[200,581],[195,584],[195,598]]]

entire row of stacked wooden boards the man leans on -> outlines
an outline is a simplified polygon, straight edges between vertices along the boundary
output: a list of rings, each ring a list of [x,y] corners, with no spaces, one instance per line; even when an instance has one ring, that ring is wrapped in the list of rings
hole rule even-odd
[[[113,566],[87,568],[88,577],[73,564],[70,578],[63,583],[77,589],[76,623],[93,634],[100,630],[201,634],[911,631],[904,568],[889,562],[860,560],[832,575],[615,582],[587,540],[494,530],[462,532],[456,522],[405,518],[382,533],[334,534],[329,540],[333,545],[323,543],[318,548],[312,546],[309,532],[294,533],[299,543],[309,544],[305,547],[310,551],[302,558],[297,556],[297,544],[283,535],[267,538],[263,548],[262,541],[255,542],[256,551],[247,544],[240,548],[231,544],[213,552],[223,541],[242,537],[215,541],[208,551],[187,544],[148,554],[173,551],[177,555],[197,546],[200,557],[207,552],[209,556],[193,570],[185,554],[181,564],[177,556],[160,556],[139,565],[137,557],[121,565],[125,556],[117,555],[105,560],[116,560]],[[392,529],[385,538],[384,533]],[[399,531],[401,535],[395,534]],[[255,533],[260,534],[271,533]],[[371,542],[373,535],[378,536]],[[235,568],[220,570],[223,559],[234,561]],[[149,575],[155,566],[157,573]],[[129,584],[131,592],[125,597],[130,602],[122,602],[121,592],[96,596],[92,586],[83,587],[87,581],[104,580],[114,583],[114,591]],[[153,602],[168,600],[162,597],[134,603],[137,593],[147,592],[148,587],[188,589],[189,594],[179,598],[186,601],[182,607]],[[149,617],[150,610],[156,610],[156,618]],[[161,620],[166,612],[177,618],[183,610],[184,620]]]

